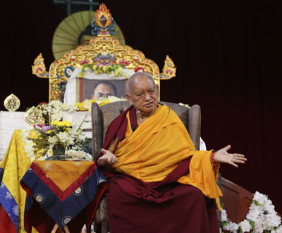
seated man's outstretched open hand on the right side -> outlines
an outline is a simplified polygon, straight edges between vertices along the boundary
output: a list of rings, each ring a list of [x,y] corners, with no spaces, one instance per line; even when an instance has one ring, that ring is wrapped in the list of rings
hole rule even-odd
[[[231,145],[228,145],[223,149],[216,151],[214,160],[216,160],[216,162],[218,163],[228,163],[236,168],[238,168],[238,165],[236,163],[245,163],[245,161],[247,161],[247,158],[245,158],[245,156],[241,155],[240,153],[228,153],[227,151],[229,149],[231,149]]]

